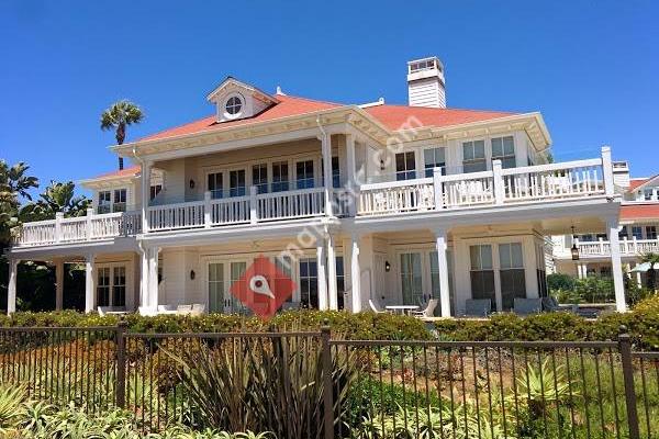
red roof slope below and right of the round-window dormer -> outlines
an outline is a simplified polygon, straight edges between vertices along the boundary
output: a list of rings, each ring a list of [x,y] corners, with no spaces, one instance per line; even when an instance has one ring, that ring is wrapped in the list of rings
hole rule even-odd
[[[159,138],[181,136],[186,134],[197,134],[214,130],[224,130],[238,125],[272,121],[276,119],[313,113],[316,111],[330,110],[333,108],[340,106],[340,104],[337,103],[314,101],[311,99],[297,98],[290,95],[278,94],[277,99],[280,101],[278,104],[270,106],[269,109],[260,112],[254,117],[219,123],[216,119],[217,116],[213,114],[199,121],[194,121],[185,125],[180,125],[174,128],[161,131],[156,134],[152,134],[149,136],[141,138],[141,140],[154,140]]]

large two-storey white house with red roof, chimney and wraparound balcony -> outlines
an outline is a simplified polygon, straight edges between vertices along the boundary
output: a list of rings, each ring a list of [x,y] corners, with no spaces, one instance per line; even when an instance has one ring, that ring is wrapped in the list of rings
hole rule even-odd
[[[266,93],[227,78],[214,114],[112,150],[136,166],[83,181],[87,217],[27,223],[16,263],[85,262],[86,308],[206,304],[258,255],[298,284],[292,302],[369,308],[369,301],[468,299],[511,309],[546,294],[545,236],[572,224],[617,240],[611,151],[546,164],[541,115],[447,109],[437,58],[407,65],[412,105],[347,105]],[[619,254],[608,258],[617,267]],[[615,270],[614,270],[615,271]],[[57,304],[62,306],[58,283]],[[624,309],[622,274],[616,278]]]

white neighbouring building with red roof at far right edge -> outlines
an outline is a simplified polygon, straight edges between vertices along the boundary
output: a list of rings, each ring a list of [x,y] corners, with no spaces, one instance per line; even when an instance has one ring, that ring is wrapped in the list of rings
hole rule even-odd
[[[623,270],[644,285],[646,272],[639,263],[640,257],[646,252],[659,252],[659,175],[629,178],[625,161],[614,162],[613,169],[616,191],[623,195],[618,227]],[[584,232],[592,230],[577,227],[574,236],[552,237],[556,271],[579,279],[612,277],[611,243],[606,234]],[[572,260],[572,246],[579,250],[579,260]]]

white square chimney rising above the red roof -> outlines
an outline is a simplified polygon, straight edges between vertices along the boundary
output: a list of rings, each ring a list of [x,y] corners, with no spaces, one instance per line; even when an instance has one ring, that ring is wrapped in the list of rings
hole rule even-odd
[[[411,106],[446,108],[444,65],[436,56],[407,63],[407,94]]]

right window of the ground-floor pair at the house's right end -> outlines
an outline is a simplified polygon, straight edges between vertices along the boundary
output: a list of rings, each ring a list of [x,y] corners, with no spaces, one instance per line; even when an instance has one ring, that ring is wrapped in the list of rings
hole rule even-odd
[[[501,275],[501,307],[503,311],[510,311],[513,308],[515,297],[526,297],[522,244],[500,244],[499,264]]]

